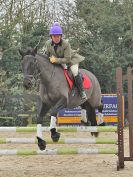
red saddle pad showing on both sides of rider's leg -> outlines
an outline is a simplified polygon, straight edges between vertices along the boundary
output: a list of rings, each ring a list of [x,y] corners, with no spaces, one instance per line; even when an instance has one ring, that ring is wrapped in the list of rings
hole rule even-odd
[[[71,71],[69,70],[66,70],[66,69],[63,69],[64,70],[64,75],[66,77],[66,80],[68,82],[68,85],[70,87],[70,90],[72,90],[73,88],[73,85],[74,85],[74,78],[73,78],[73,75],[71,73]],[[91,86],[92,86],[92,83],[91,83],[91,80],[90,78],[85,74],[85,73],[82,73],[80,70],[79,70],[80,74],[82,75],[82,79],[83,79],[83,88],[84,89],[90,89]]]

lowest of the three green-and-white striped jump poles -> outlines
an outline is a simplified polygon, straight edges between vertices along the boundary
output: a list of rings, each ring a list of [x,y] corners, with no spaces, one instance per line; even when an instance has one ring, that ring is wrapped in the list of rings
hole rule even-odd
[[[114,148],[58,148],[44,151],[34,149],[0,149],[0,155],[74,155],[74,154],[117,154]]]

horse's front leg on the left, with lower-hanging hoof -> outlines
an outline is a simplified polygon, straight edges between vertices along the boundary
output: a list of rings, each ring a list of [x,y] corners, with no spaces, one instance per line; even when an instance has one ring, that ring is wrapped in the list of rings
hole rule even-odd
[[[45,150],[46,148],[46,141],[43,139],[42,134],[42,123],[43,123],[43,117],[48,112],[49,107],[40,101],[39,103],[39,109],[38,109],[38,117],[37,117],[37,140],[38,140],[38,147],[40,150]]]

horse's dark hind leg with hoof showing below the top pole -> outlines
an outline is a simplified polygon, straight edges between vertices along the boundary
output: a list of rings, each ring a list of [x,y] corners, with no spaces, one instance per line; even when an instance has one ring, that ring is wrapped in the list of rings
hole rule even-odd
[[[96,121],[96,112],[95,112],[95,108],[93,108],[90,103],[88,103],[87,101],[85,103],[83,103],[81,105],[81,107],[83,109],[86,109],[86,113],[87,113],[87,122],[89,124],[89,122],[91,123],[91,126],[97,126],[97,121]],[[98,132],[91,132],[91,135],[94,135],[95,137],[98,136]]]

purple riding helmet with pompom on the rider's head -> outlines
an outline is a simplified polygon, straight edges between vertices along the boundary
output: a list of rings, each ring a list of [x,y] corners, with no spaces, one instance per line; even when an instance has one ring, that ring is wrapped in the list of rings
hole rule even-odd
[[[62,28],[60,27],[58,22],[55,22],[53,26],[50,28],[49,35],[62,35]]]

